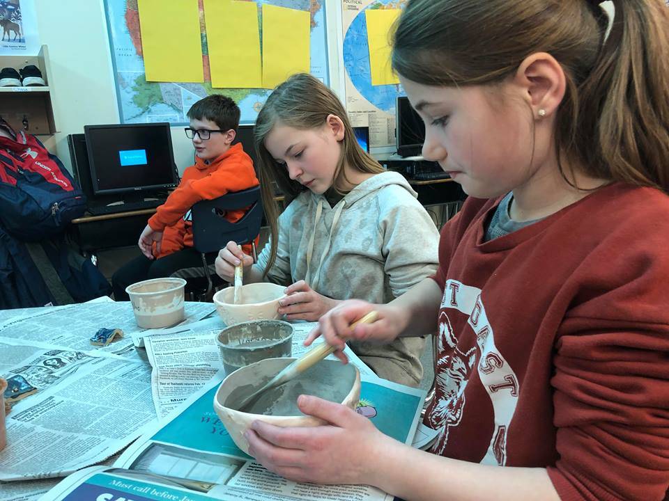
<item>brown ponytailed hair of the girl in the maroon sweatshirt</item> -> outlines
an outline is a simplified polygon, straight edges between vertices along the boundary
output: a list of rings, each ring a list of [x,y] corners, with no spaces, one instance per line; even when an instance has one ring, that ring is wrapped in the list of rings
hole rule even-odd
[[[548,52],[567,78],[558,160],[564,154],[592,177],[669,191],[669,9],[663,0],[613,5],[606,38],[609,19],[596,0],[410,0],[392,65],[420,84],[486,85]]]

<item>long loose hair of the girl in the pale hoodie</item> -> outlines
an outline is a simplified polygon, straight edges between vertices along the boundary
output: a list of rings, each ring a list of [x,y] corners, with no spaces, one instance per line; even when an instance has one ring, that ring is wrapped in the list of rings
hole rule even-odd
[[[263,208],[270,225],[271,237],[270,260],[264,276],[267,276],[277,257],[279,207],[274,200],[272,182],[277,183],[279,190],[286,197],[286,205],[308,189],[299,182],[291,180],[286,167],[277,164],[265,148],[265,138],[279,122],[295,129],[321,129],[325,126],[325,120],[329,115],[336,115],[341,118],[341,122],[344,122],[344,139],[341,141],[341,155],[334,170],[332,187],[342,193],[341,186],[345,186],[348,181],[344,166],[363,173],[383,172],[383,167],[378,161],[358,145],[346,110],[330,88],[306,73],[294,74],[277,86],[258,113],[254,127]]]

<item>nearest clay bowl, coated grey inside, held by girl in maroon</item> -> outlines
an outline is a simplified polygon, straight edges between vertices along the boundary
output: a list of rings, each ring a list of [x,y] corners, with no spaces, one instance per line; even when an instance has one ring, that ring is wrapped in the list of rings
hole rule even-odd
[[[279,427],[313,427],[325,424],[312,416],[305,416],[300,411],[292,415],[282,415],[286,406],[294,406],[299,395],[308,394],[338,401],[354,409],[360,401],[360,372],[354,365],[342,364],[339,360],[321,360],[300,376],[285,383],[275,390],[268,390],[259,401],[249,408],[249,412],[236,410],[236,404],[249,392],[266,383],[281,369],[296,360],[295,358],[267,358],[252,365],[247,365],[227,376],[214,397],[214,410],[220,417],[225,429],[237,447],[249,453],[249,443],[244,433],[251,423],[260,420]],[[278,397],[278,398],[277,398]],[[264,401],[263,401],[264,399]],[[270,408],[272,415],[254,413],[254,410],[266,406],[268,401],[277,401],[275,408]]]

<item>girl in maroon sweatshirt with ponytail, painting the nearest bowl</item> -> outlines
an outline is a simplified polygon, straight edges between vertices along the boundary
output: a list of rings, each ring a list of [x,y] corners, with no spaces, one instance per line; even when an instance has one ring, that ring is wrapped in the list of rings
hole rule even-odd
[[[247,433],[270,470],[410,500],[665,498],[669,11],[599,3],[408,1],[392,64],[424,157],[470,198],[435,276],[340,305],[307,343],[436,333],[438,438],[413,450],[303,396],[327,426]]]

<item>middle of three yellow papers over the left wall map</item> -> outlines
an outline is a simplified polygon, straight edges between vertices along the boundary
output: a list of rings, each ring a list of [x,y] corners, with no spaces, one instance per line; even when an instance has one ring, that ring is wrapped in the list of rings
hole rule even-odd
[[[260,88],[258,6],[249,1],[204,0],[211,86]]]

